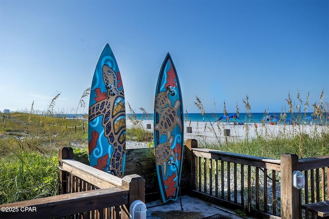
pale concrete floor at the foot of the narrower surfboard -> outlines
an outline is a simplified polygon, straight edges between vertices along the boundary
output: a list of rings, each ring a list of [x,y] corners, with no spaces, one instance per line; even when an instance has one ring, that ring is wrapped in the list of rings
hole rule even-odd
[[[239,216],[235,215],[233,211],[224,209],[223,207],[215,206],[213,204],[203,202],[198,198],[193,198],[187,195],[181,197],[181,210],[179,197],[176,202],[169,204],[162,204],[160,200],[151,203],[146,203],[147,218],[148,219],[200,219],[209,217],[215,214],[221,214],[227,218],[237,219]],[[220,217],[214,217],[220,218]],[[223,217],[222,217],[223,218]]]

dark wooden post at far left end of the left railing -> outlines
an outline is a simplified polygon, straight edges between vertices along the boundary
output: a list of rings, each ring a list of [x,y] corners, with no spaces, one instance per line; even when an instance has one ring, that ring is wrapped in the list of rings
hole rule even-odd
[[[73,149],[68,147],[61,147],[58,152],[58,162],[59,162],[59,175],[60,175],[60,194],[67,193],[67,174],[65,171],[62,171],[62,160],[72,159],[73,158]]]

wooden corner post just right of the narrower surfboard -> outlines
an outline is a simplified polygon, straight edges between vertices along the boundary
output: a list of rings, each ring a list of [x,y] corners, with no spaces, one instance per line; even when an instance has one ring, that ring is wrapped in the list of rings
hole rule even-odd
[[[190,174],[188,175],[188,181],[190,182],[188,184],[188,189],[191,190],[196,190],[197,187],[197,182],[196,182],[196,176],[197,176],[197,158],[196,156],[193,156],[192,154],[192,148],[197,148],[197,141],[195,139],[188,139],[186,140],[186,162],[187,162],[187,167],[190,168],[188,169]]]

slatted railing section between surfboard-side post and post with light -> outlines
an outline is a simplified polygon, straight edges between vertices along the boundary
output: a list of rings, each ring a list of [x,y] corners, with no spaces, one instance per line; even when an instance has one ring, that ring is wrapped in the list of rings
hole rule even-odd
[[[194,195],[257,217],[279,215],[280,160],[196,148],[195,140],[188,140],[187,147]]]

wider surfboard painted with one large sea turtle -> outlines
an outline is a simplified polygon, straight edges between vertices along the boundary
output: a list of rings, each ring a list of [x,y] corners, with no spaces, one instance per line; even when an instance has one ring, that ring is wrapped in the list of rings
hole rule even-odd
[[[90,89],[88,148],[90,166],[118,177],[125,164],[125,103],[118,64],[107,44]]]

